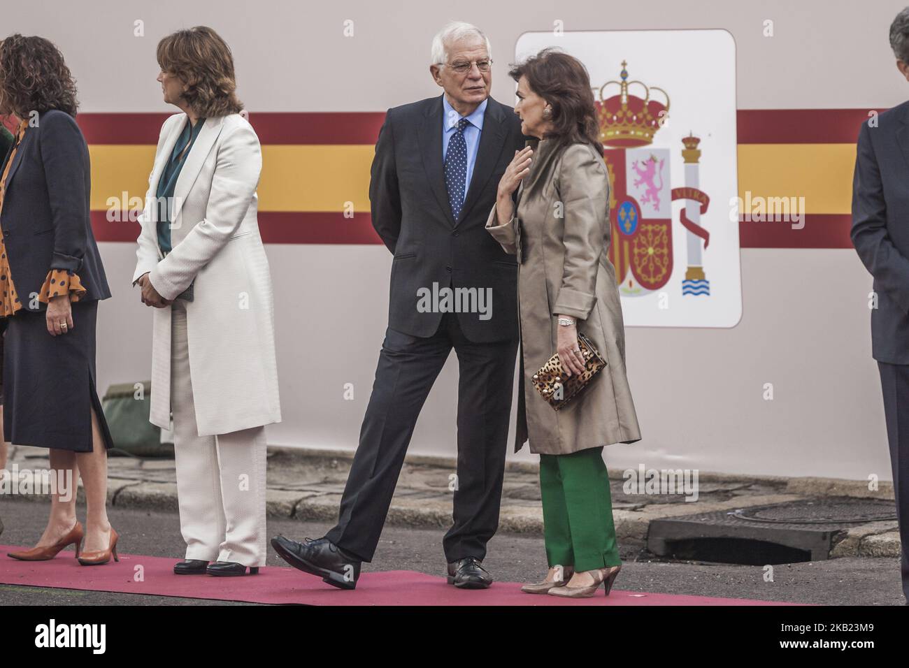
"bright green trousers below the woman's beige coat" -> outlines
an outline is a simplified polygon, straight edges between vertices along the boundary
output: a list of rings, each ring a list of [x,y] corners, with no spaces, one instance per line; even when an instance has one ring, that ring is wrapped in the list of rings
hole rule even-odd
[[[550,568],[618,566],[613,504],[603,447],[540,455],[543,533]]]

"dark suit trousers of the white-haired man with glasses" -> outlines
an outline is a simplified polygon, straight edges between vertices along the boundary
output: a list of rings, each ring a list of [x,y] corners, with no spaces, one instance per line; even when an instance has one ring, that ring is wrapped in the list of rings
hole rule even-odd
[[[459,373],[457,485],[450,492],[454,472],[440,469],[437,486],[438,494],[454,495],[445,558],[482,560],[498,527],[517,340],[468,341],[451,313],[425,338],[389,327],[338,523],[326,534],[365,562],[373,559],[417,417],[453,347]]]

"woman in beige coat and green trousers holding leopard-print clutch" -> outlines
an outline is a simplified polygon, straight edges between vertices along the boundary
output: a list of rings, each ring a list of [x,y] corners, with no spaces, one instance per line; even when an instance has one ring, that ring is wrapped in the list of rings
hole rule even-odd
[[[609,177],[590,79],[580,61],[546,49],[509,73],[522,131],[541,139],[517,152],[502,177],[486,229],[516,254],[521,377],[515,450],[540,454],[549,573],[527,593],[608,595],[621,560],[603,447],[641,434],[624,367],[622,304],[609,261]],[[512,195],[518,188],[517,211]],[[554,354],[583,371],[577,334],[606,366],[560,411],[531,377]],[[571,574],[570,581],[566,581]]]

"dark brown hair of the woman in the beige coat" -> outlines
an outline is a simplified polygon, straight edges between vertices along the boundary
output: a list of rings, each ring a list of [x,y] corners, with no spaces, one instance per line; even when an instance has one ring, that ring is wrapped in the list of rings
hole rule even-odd
[[[526,76],[530,89],[552,107],[549,120],[553,129],[545,139],[561,145],[584,142],[603,153],[590,75],[580,60],[553,47],[545,48],[524,63],[513,65],[508,75],[514,81]]]

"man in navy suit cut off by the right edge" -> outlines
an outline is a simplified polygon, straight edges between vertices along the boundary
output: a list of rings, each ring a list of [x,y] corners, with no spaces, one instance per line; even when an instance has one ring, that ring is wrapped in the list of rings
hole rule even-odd
[[[890,26],[909,81],[909,7]],[[853,180],[852,240],[874,276],[872,354],[881,373],[909,603],[909,102],[862,124]]]

